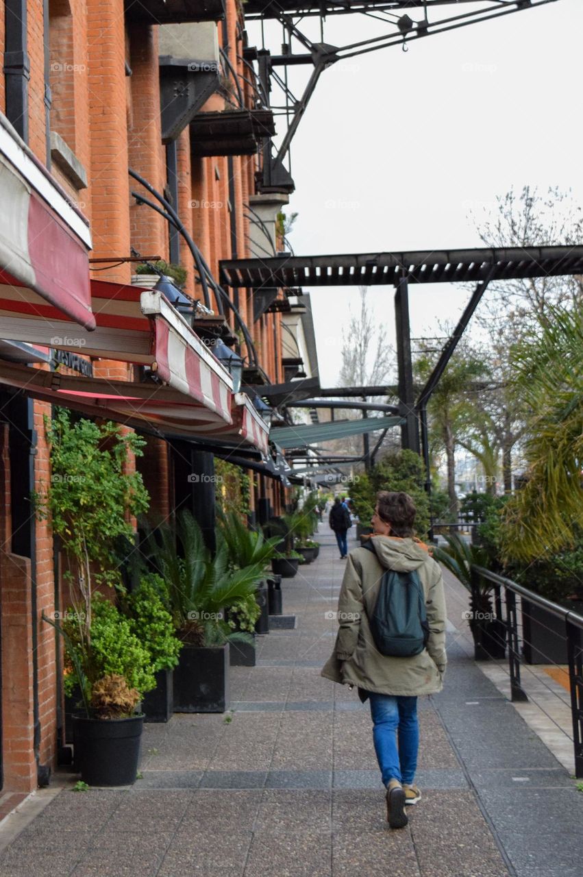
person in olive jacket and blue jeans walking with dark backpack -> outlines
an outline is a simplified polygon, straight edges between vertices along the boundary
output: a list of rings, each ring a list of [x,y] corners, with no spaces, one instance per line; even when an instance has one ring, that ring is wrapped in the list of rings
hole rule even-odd
[[[348,558],[338,599],[336,645],[322,670],[327,679],[357,686],[360,700],[370,701],[374,750],[387,788],[391,828],[408,824],[404,805],[421,800],[414,784],[417,697],[441,691],[447,662],[444,581],[427,547],[414,538],[415,517],[408,494],[382,491],[377,496],[373,535]],[[401,575],[395,579],[392,573]],[[401,604],[395,603],[395,595]],[[394,617],[380,617],[391,600],[399,611]],[[422,635],[416,653],[407,653],[407,645],[403,649],[404,638],[398,653],[380,651],[379,622],[384,630],[393,625],[396,642],[399,617],[407,619],[408,631],[418,622]]]

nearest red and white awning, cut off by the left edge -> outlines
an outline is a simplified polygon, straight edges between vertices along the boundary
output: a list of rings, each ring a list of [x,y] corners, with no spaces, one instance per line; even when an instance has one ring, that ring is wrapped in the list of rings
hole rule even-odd
[[[2,282],[91,330],[90,249],[87,219],[0,113]]]

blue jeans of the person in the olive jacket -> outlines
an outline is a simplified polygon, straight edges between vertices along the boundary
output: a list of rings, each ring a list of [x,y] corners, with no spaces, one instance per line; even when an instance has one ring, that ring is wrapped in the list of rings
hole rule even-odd
[[[419,750],[417,698],[369,693],[374,751],[385,786],[390,780],[412,783]],[[398,739],[398,744],[397,744]]]

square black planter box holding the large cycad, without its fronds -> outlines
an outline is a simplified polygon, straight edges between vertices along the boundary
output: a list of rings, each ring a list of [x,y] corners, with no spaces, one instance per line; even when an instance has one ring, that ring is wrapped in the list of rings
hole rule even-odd
[[[184,645],[174,669],[174,712],[224,712],[229,705],[229,644]]]

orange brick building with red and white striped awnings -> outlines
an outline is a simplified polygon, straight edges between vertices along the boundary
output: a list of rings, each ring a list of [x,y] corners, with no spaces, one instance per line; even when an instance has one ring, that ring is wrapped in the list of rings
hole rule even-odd
[[[218,263],[281,249],[287,196],[256,190],[273,117],[235,0],[225,14],[217,0],[6,0],[0,29],[1,753],[4,790],[26,792],[64,740],[41,620],[60,605],[59,557],[31,504],[50,479],[44,417],[60,403],[141,430],[163,515],[186,506],[210,530],[214,488],[188,474],[217,455],[250,467],[254,517],[281,511],[256,390],[289,378],[284,296],[227,295]],[[136,263],[153,257],[186,268],[182,316],[142,290]],[[219,338],[245,396],[210,353]]]

